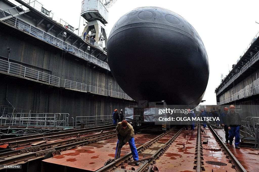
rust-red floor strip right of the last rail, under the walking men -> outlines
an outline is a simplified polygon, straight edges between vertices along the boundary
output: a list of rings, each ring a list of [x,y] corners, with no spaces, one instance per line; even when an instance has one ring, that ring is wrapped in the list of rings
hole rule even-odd
[[[226,139],[224,131],[222,129],[215,130],[225,142]],[[259,150],[243,147],[240,147],[240,149],[235,149],[234,143],[232,146],[230,146],[229,143],[227,143],[227,147],[229,150],[231,150],[232,154],[234,154],[236,159],[238,159],[238,161],[248,172],[259,171]]]

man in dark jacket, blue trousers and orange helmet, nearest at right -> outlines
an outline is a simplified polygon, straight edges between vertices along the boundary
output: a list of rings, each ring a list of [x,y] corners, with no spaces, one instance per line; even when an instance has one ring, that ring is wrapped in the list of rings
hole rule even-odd
[[[229,130],[229,145],[232,145],[233,139],[235,137],[235,148],[240,149],[240,124],[241,124],[241,116],[238,112],[235,112],[235,106],[230,105],[230,112],[227,113],[226,124]]]

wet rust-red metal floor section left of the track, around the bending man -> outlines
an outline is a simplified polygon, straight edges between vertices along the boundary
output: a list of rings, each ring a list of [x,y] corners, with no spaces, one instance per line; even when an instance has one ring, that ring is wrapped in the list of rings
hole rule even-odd
[[[136,147],[152,140],[159,134],[136,134]],[[47,171],[48,166],[59,164],[64,167],[73,167],[89,171],[96,171],[104,166],[104,163],[109,159],[114,159],[116,150],[117,137],[102,140],[95,143],[90,143],[86,146],[81,146],[61,152],[61,155],[55,155],[52,158],[43,160],[44,171]],[[126,143],[121,149],[121,156],[131,152],[130,146]]]

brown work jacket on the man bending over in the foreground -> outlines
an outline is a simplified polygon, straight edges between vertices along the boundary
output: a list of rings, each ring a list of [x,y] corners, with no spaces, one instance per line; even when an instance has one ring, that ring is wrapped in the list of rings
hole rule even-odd
[[[131,137],[134,137],[134,129],[132,127],[132,125],[130,125],[130,123],[128,123],[128,126],[124,129],[121,126],[121,122],[118,123],[117,127],[116,127],[116,132],[117,134],[120,134],[121,137],[124,138],[123,142],[127,143]]]

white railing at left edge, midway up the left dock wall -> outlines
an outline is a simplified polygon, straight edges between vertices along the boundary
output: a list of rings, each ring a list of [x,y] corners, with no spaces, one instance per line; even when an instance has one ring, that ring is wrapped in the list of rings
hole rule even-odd
[[[59,86],[59,77],[0,59],[0,71]]]

